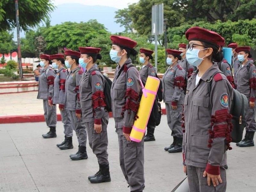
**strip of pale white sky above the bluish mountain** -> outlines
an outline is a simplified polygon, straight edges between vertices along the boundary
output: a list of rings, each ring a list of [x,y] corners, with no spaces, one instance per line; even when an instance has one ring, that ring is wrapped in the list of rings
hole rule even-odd
[[[128,7],[128,4],[137,3],[139,0],[52,0],[55,5],[66,4],[66,3],[79,3],[85,5],[103,5],[109,7],[116,7],[123,9]]]

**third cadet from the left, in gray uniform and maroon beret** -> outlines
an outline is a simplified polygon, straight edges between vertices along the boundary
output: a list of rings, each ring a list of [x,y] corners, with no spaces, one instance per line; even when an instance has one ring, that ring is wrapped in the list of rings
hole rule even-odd
[[[72,160],[87,159],[86,152],[86,140],[87,133],[85,124],[81,118],[80,96],[79,96],[79,82],[82,78],[83,72],[78,67],[80,52],[67,50],[65,51],[66,60],[65,65],[70,68],[70,72],[67,76],[65,83],[66,101],[65,109],[68,110],[72,127],[76,132],[77,140],[79,143],[78,151],[76,154],[72,154],[69,157]]]

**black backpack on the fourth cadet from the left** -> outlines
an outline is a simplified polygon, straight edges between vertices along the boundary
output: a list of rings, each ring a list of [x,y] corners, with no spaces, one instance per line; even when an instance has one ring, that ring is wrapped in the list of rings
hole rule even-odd
[[[95,69],[92,70],[92,72],[93,71],[100,71],[100,70],[98,68],[95,68]],[[92,76],[92,73],[89,75],[89,84],[92,86],[91,76]],[[103,77],[106,80],[104,90],[103,90],[104,95],[105,95],[106,109],[107,109],[108,112],[112,112],[112,101],[111,101],[111,94],[110,94],[112,81],[108,77],[106,77],[105,75],[103,75]]]

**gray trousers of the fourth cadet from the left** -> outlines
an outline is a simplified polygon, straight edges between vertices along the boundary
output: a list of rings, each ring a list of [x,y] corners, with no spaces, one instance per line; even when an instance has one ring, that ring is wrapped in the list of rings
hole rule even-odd
[[[109,164],[108,163],[108,116],[101,118],[102,132],[96,133],[94,130],[94,121],[85,122],[85,127],[87,129],[87,135],[89,140],[90,148],[94,155],[96,155],[99,164]]]

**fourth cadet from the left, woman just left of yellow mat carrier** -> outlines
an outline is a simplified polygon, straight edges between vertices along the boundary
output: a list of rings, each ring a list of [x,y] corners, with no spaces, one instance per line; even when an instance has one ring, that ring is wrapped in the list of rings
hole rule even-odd
[[[108,111],[104,95],[106,80],[96,67],[97,59],[101,59],[100,48],[79,47],[81,58],[79,64],[86,68],[79,84],[82,120],[87,129],[89,145],[96,155],[99,171],[89,176],[91,183],[111,181],[108,162]]]

